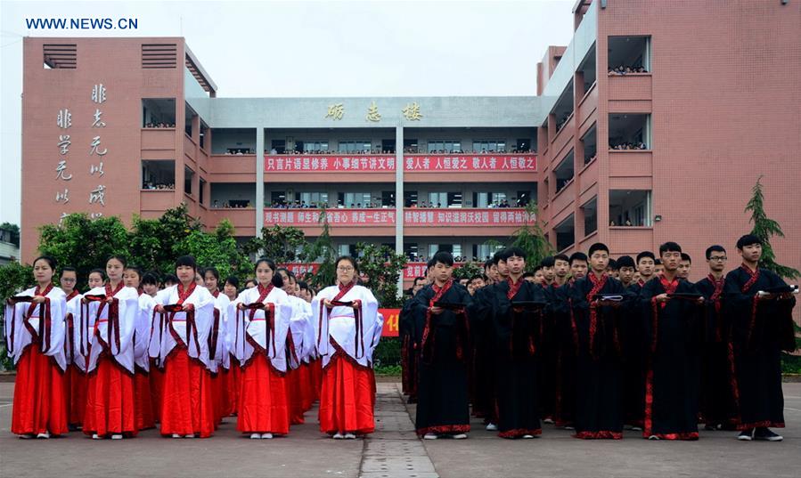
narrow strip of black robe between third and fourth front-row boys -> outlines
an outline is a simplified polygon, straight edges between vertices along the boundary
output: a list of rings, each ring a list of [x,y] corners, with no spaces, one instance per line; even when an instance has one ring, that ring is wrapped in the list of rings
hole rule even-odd
[[[640,296],[644,281],[633,282],[626,292],[634,299]],[[645,417],[645,359],[648,341],[645,320],[639,301],[624,304],[625,327],[623,328],[623,419],[626,425],[642,429]],[[648,311],[650,314],[650,310]]]

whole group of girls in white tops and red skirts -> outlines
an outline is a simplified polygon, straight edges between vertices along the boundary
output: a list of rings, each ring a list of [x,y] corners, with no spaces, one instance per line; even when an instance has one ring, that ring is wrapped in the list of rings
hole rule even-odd
[[[240,433],[270,439],[317,400],[323,433],[372,433],[383,317],[356,260],[336,266],[337,283],[315,294],[266,258],[240,290],[191,255],[163,282],[119,255],[87,278],[38,257],[37,286],[5,307],[12,433],[118,440],[158,424],[166,437],[206,438],[235,416]]]

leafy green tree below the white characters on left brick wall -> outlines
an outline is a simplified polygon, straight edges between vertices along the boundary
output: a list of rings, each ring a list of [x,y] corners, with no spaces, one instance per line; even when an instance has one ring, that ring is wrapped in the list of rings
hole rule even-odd
[[[96,267],[104,267],[110,255],[128,256],[128,233],[118,217],[89,219],[86,214],[72,214],[61,224],[39,228],[39,252],[51,255],[58,267],[71,265],[84,283]]]

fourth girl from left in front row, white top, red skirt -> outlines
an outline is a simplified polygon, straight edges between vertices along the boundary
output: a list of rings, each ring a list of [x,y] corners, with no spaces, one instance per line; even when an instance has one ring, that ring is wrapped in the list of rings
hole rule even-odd
[[[257,286],[242,291],[228,307],[233,352],[241,364],[236,427],[253,439],[290,431],[284,376],[292,307],[274,272],[273,261],[259,259]]]

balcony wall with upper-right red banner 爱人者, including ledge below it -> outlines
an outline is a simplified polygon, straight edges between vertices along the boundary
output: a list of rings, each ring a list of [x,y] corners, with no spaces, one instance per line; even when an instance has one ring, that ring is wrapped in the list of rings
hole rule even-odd
[[[534,182],[534,153],[405,154],[405,182]]]

